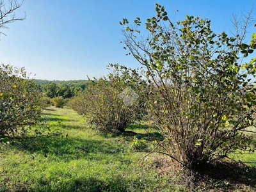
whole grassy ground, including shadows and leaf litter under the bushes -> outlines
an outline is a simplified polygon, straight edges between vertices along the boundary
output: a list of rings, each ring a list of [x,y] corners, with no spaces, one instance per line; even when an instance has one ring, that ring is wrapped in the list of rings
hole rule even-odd
[[[248,164],[216,164],[230,174],[209,172],[188,177],[170,159],[148,156],[159,132],[132,125],[127,133],[100,134],[72,109],[47,108],[45,121],[62,136],[0,145],[0,191],[254,191],[255,154],[234,154]],[[135,134],[136,132],[136,134]],[[138,150],[136,142],[141,141]],[[141,147],[141,148],[140,148]],[[143,149],[144,152],[141,152]],[[248,166],[249,165],[249,166]],[[215,175],[214,175],[215,174]],[[216,177],[218,176],[218,177]]]

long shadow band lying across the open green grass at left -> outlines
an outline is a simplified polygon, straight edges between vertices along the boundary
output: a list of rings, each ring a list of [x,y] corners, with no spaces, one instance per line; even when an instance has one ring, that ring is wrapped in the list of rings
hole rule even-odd
[[[82,157],[101,161],[104,154],[122,154],[127,150],[121,145],[107,141],[61,138],[60,136],[20,141],[12,143],[12,147],[28,151],[31,154],[40,153],[44,154],[45,157],[57,157],[66,161]]]

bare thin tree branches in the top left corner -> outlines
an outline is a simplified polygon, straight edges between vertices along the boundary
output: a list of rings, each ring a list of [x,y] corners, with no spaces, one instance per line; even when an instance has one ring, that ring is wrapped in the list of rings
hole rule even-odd
[[[23,1],[19,3],[17,0],[8,1],[9,6],[6,7],[4,0],[0,0],[0,28],[8,28],[8,25],[17,20],[26,19],[26,14],[24,17],[17,17],[15,11],[22,6]],[[5,35],[0,31],[0,35]]]

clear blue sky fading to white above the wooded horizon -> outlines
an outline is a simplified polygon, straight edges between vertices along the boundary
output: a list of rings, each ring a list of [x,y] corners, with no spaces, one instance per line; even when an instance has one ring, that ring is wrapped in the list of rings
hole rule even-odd
[[[5,0],[6,1],[6,0]],[[253,0],[25,0],[17,11],[26,20],[1,29],[0,63],[25,67],[36,79],[74,80],[106,75],[106,65],[139,64],[120,44],[119,21],[142,22],[156,15],[155,3],[166,8],[171,20],[186,15],[212,21],[215,33],[232,29],[232,13],[249,11]],[[6,3],[8,3],[6,1]],[[177,12],[179,10],[179,12]],[[253,12],[255,14],[256,10]],[[250,28],[250,33],[256,28]],[[254,53],[253,53],[254,54]]]

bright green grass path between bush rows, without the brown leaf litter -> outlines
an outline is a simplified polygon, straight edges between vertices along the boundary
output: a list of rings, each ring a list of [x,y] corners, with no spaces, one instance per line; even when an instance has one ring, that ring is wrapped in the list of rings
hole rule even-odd
[[[104,136],[67,108],[47,108],[45,120],[63,136],[0,145],[0,191],[175,190],[152,162],[138,164],[146,153],[131,148],[134,136]],[[154,136],[146,128],[135,131]]]

